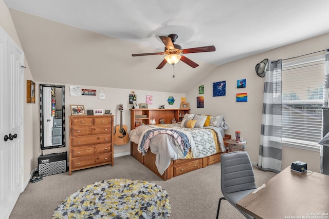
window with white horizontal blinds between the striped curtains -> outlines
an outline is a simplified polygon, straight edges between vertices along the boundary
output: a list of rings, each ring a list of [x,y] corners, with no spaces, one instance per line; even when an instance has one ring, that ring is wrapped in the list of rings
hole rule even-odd
[[[282,63],[282,143],[319,150],[324,55]]]

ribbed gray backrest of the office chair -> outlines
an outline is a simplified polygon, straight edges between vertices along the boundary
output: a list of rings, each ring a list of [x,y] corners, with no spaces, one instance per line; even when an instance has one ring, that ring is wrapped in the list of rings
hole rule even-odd
[[[221,156],[221,189],[228,194],[256,189],[254,174],[247,152],[224,153]]]

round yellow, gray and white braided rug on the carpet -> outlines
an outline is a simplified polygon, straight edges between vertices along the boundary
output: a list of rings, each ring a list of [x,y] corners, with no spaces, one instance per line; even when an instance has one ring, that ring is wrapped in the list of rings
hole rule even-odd
[[[123,178],[96,182],[66,197],[57,218],[167,218],[169,196],[161,186]]]

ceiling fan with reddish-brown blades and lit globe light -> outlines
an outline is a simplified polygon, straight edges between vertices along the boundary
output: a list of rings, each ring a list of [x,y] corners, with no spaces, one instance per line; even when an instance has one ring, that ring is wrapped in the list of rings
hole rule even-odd
[[[143,55],[166,55],[165,59],[156,67],[156,69],[161,69],[166,63],[171,65],[175,65],[179,60],[188,64],[192,68],[198,67],[199,65],[193,62],[191,59],[187,58],[184,55],[187,53],[196,53],[196,52],[213,52],[216,50],[215,46],[203,46],[203,47],[195,47],[189,49],[181,49],[181,46],[174,44],[176,39],[178,38],[177,34],[169,34],[168,36],[159,36],[163,44],[165,44],[165,52],[153,52],[153,53],[140,53],[140,54],[132,54],[132,56],[143,56]]]

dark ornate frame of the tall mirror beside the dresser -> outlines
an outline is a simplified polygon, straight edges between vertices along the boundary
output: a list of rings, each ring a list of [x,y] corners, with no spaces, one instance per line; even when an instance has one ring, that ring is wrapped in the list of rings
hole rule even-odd
[[[54,87],[62,89],[62,144],[61,145],[53,145],[53,146],[44,146],[44,120],[43,120],[43,88],[44,87]],[[41,150],[51,149],[51,148],[61,148],[65,147],[65,86],[64,85],[48,85],[48,84],[40,84],[40,146]]]

